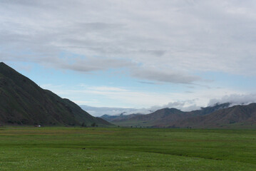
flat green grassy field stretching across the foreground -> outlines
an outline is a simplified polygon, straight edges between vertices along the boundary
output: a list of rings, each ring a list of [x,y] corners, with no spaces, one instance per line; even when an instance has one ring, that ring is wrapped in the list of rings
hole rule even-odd
[[[256,170],[256,130],[0,128],[0,170]]]

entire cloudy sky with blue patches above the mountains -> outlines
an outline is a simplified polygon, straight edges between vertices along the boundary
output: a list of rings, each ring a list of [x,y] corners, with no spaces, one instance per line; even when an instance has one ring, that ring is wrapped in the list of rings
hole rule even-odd
[[[78,105],[256,102],[256,1],[0,0],[0,61]]]

